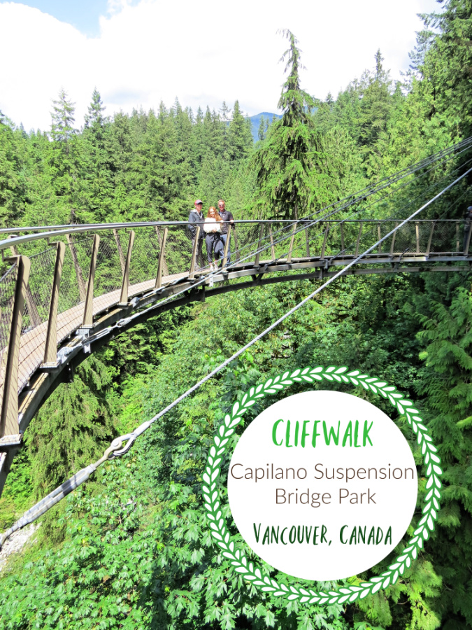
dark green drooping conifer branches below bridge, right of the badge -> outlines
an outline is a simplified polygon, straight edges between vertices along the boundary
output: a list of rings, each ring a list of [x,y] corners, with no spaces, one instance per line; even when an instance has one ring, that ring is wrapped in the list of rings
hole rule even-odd
[[[418,334],[425,346],[421,354],[424,374],[418,389],[427,395],[429,426],[445,468],[443,509],[434,536],[434,566],[442,575],[443,626],[466,628],[472,624],[469,597],[472,558],[472,295],[455,290],[450,305],[431,300],[428,314],[418,317]]]

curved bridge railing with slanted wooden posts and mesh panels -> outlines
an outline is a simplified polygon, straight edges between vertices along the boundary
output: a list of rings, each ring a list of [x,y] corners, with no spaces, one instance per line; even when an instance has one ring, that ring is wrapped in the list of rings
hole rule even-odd
[[[343,264],[400,222],[236,221],[225,251],[227,262],[231,251],[227,268]],[[410,222],[369,254],[369,260],[468,258],[469,228],[464,221]],[[66,337],[76,331],[87,335],[96,316],[129,307],[136,295],[159,293],[169,283],[193,281],[210,271],[196,267],[201,261],[192,250],[187,222],[25,228],[10,236],[0,241],[0,447],[8,436],[18,438],[13,398],[17,400],[39,366],[57,366],[57,346]],[[203,256],[206,264],[204,247]],[[227,278],[219,276],[220,281]]]

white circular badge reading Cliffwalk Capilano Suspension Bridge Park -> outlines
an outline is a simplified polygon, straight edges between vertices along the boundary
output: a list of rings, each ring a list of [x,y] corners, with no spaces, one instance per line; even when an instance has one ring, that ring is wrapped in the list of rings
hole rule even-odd
[[[417,500],[405,437],[370,402],[307,391],[271,405],[241,436],[229,505],[262,559],[307,580],[362,573],[398,545]]]

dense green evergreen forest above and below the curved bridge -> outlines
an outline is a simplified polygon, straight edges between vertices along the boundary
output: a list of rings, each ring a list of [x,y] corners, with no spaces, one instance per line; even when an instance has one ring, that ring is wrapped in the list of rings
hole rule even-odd
[[[294,218],[471,136],[472,3],[441,6],[424,16],[402,83],[391,80],[379,50],[373,68],[336,98],[303,92],[299,49],[286,32],[283,116],[261,125],[255,144],[238,102],[219,112],[176,102],[107,116],[95,90],[80,125],[61,92],[48,132],[26,132],[14,112],[2,113],[1,227],[185,221],[196,197],[207,207],[224,198],[235,218]],[[431,172],[417,186],[437,177]],[[449,197],[448,218],[472,204],[471,183]],[[38,542],[0,573],[0,629],[470,629],[471,281],[464,268],[333,283],[292,316],[289,334],[273,330],[43,517]],[[29,426],[0,499],[1,530],[308,295],[313,282],[180,307],[85,360]],[[213,545],[201,498],[208,444],[232,402],[288,366],[315,364],[355,365],[417,401],[445,469],[438,524],[422,554],[393,586],[343,606],[287,606],[243,582]],[[401,416],[394,421],[405,428]],[[419,447],[405,435],[420,479],[409,534],[425,489]]]

